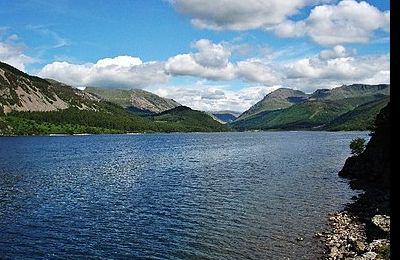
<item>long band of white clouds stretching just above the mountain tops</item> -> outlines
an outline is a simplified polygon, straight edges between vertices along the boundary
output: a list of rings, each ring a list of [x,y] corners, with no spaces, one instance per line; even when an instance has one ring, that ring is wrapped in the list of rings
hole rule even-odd
[[[196,52],[179,54],[166,62],[143,62],[131,56],[105,58],[86,64],[53,62],[46,65],[39,76],[73,86],[146,88],[196,109],[237,111],[246,110],[278,86],[310,93],[317,88],[342,84],[390,82],[389,54],[360,56],[343,45],[289,62],[259,58],[232,62],[233,47],[229,44],[203,39],[192,46]],[[168,85],[171,77],[180,75],[193,76],[200,79],[200,83]],[[243,80],[245,84],[238,91],[228,85],[208,85],[216,80],[228,83]],[[257,86],[248,87],[254,84]]]

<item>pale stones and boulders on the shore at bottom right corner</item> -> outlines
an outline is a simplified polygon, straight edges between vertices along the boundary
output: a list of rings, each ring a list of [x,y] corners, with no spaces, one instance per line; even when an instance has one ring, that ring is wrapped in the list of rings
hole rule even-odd
[[[390,259],[389,205],[388,191],[367,189],[344,210],[330,214],[329,229],[319,236],[323,259]]]

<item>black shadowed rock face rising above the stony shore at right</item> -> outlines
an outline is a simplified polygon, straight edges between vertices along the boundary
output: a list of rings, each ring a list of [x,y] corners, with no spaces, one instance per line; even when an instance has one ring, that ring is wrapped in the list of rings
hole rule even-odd
[[[346,160],[339,176],[351,179],[351,187],[389,190],[390,185],[390,102],[375,121],[375,131],[365,151]]]

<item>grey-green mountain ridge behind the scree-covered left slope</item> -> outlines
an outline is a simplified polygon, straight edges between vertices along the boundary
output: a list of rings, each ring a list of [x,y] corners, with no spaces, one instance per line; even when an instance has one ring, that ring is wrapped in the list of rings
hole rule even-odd
[[[140,115],[161,113],[180,106],[173,99],[162,98],[142,89],[122,90],[87,87],[85,92],[118,104]]]

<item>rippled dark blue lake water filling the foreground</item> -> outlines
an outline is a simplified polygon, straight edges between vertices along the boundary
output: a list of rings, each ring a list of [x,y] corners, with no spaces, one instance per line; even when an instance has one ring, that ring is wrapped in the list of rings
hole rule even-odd
[[[314,259],[356,137],[1,137],[0,258]]]

